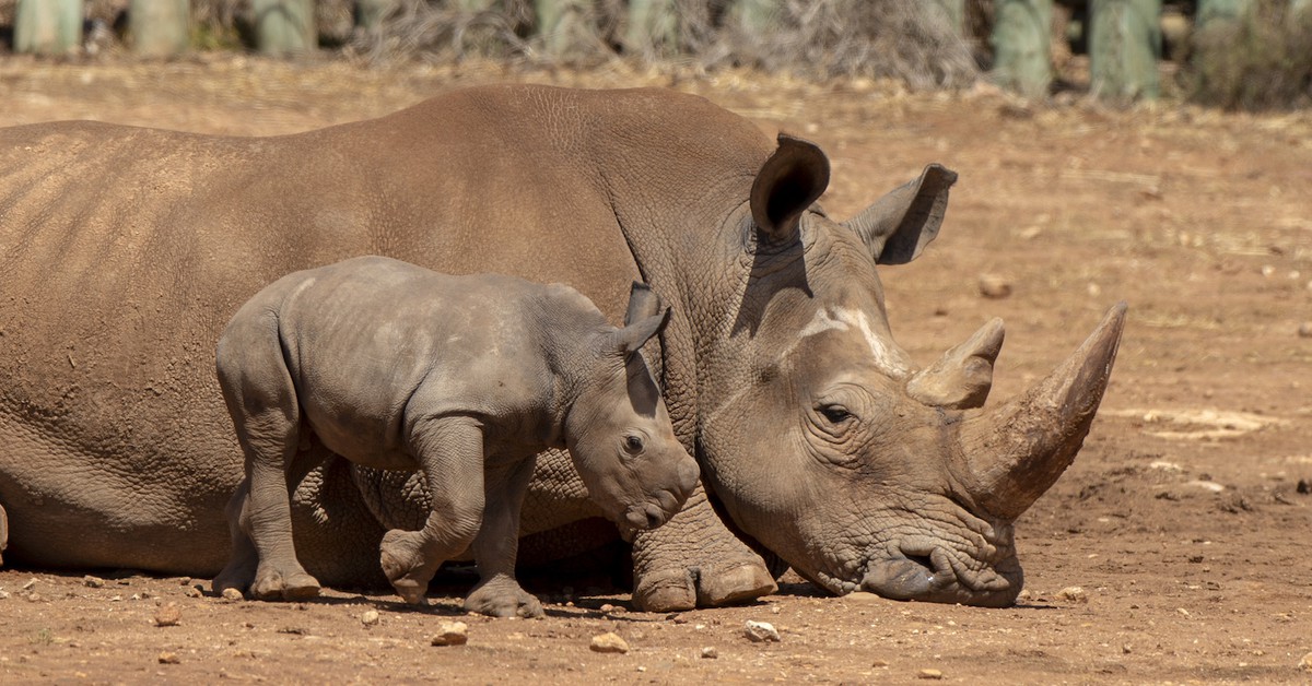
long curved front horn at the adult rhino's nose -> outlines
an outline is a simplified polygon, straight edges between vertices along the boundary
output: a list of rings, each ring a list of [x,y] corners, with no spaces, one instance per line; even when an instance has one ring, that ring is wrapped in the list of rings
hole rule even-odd
[[[1124,321],[1119,303],[1046,379],[962,422],[960,477],[981,508],[1015,519],[1071,466],[1107,390]]]

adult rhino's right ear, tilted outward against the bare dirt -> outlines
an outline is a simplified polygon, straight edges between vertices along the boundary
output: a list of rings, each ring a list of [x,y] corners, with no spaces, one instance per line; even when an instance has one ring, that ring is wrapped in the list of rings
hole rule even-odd
[[[938,236],[947,211],[947,189],[955,182],[956,172],[930,164],[920,178],[879,198],[845,226],[866,241],[876,262],[909,262]]]

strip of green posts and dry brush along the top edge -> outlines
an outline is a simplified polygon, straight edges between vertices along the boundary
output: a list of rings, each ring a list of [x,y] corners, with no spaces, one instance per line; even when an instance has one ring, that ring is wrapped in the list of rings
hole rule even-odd
[[[0,51],[989,79],[1227,109],[1312,105],[1312,0],[0,0]]]

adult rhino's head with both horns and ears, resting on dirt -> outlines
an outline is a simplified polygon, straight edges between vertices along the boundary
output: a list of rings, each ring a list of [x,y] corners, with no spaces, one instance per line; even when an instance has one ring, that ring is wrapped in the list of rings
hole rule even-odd
[[[1075,459],[1124,320],[1113,308],[1046,379],[984,407],[1002,324],[917,369],[892,338],[876,264],[917,257],[953,172],[928,167],[849,222],[815,206],[829,165],[779,136],[731,216],[741,272],[701,341],[697,449],[747,536],[844,594],[1008,606],[1013,522]]]

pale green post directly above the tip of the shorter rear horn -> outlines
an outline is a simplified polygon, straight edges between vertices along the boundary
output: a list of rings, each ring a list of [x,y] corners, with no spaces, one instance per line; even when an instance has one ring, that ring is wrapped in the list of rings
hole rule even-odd
[[[993,80],[1026,97],[1044,97],[1052,84],[1052,0],[993,4]]]

